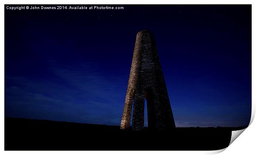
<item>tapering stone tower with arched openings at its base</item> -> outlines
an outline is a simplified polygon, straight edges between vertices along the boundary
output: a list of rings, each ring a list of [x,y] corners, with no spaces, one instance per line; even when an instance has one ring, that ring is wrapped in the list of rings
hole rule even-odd
[[[137,33],[121,129],[129,128],[133,107],[132,129],[143,130],[145,99],[149,129],[168,130],[175,127],[156,44],[152,32],[148,30]]]

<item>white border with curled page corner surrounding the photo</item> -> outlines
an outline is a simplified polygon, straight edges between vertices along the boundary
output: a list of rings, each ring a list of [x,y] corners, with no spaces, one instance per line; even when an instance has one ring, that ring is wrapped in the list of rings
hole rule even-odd
[[[0,61],[0,68],[1,68],[1,76],[0,76],[0,86],[2,86],[2,89],[0,89],[0,99],[1,99],[1,118],[0,118],[0,150],[2,153],[5,154],[13,154],[13,153],[19,153],[21,155],[29,155],[29,154],[55,154],[55,153],[61,153],[61,154],[70,154],[70,153],[75,153],[75,154],[98,154],[98,153],[104,153],[104,154],[123,154],[123,155],[130,155],[132,154],[142,154],[142,151],[3,151],[4,150],[4,4],[252,4],[252,28],[255,27],[255,9],[254,9],[254,4],[255,0],[157,0],[157,1],[149,1],[149,0],[123,0],[123,1],[118,1],[118,0],[1,0],[1,7],[0,7],[0,39],[1,39],[1,44],[0,44],[0,49],[1,49],[1,61]],[[255,43],[255,31],[254,29],[252,30],[252,60],[255,59],[255,48],[254,48],[254,43]],[[256,63],[252,61],[252,79],[256,79],[256,73],[255,73],[255,68],[256,68]],[[254,119],[255,115],[255,80],[252,81],[252,116],[251,116],[251,122]],[[254,149],[254,142],[255,142],[255,131],[256,131],[256,125],[253,123],[250,125],[247,129],[246,132],[242,134],[241,138],[239,140],[235,141],[231,146],[228,147],[226,151],[223,153],[226,154],[255,154],[255,149]],[[156,153],[161,153],[161,154],[213,154],[213,153],[219,153],[222,152],[225,149],[222,150],[216,150],[216,151],[143,151],[143,154],[148,153],[148,154],[156,154]]]

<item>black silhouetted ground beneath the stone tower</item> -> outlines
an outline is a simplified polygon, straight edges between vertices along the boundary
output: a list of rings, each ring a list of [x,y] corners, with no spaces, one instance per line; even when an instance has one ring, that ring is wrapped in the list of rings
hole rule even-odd
[[[218,150],[228,147],[232,130],[244,128],[133,132],[110,125],[5,118],[5,150]]]

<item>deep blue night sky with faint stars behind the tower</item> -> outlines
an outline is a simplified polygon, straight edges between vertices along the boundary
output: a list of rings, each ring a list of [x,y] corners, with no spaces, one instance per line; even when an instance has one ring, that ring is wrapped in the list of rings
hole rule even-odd
[[[5,116],[120,125],[136,34],[147,29],[177,127],[249,124],[251,5],[119,6],[5,9]]]

